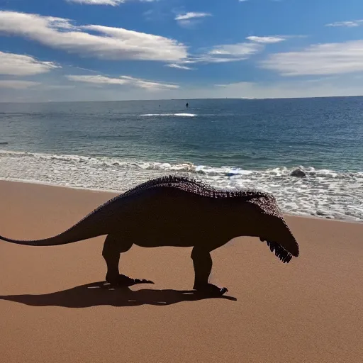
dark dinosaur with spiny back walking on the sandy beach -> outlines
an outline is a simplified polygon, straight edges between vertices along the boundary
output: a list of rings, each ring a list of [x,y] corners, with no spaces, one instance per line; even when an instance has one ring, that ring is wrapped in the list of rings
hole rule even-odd
[[[0,240],[18,245],[54,246],[107,235],[102,255],[106,281],[131,286],[152,281],[119,274],[120,255],[132,245],[193,247],[194,289],[222,295],[208,284],[210,252],[239,236],[259,237],[282,262],[298,257],[298,243],[274,196],[259,191],[219,191],[184,177],[146,181],[96,208],[59,235],[43,240]]]

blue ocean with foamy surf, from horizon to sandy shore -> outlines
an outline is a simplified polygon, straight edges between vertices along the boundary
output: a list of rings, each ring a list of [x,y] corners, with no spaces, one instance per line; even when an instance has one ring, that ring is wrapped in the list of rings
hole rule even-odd
[[[0,179],[122,192],[163,175],[363,220],[363,97],[0,104]]]

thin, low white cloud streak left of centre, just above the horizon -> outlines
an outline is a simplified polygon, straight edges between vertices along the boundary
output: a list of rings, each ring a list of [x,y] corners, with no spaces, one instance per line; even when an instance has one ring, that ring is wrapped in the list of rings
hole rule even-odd
[[[106,77],[106,76],[101,76],[101,75],[95,75],[95,76],[68,75],[66,77],[70,81],[75,81],[75,82],[86,82],[86,83],[91,83],[91,84],[96,84],[96,85],[102,85],[102,84],[125,85],[125,84],[128,84],[130,86],[147,89],[149,91],[162,90],[162,89],[178,89],[179,88],[179,86],[177,84],[152,82],[152,81],[147,81],[145,79],[129,77],[129,76],[120,76],[119,78],[111,78],[111,77]]]

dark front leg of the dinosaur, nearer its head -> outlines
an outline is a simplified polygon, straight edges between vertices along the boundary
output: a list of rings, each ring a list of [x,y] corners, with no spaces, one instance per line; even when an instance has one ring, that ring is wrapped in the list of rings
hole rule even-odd
[[[191,259],[194,265],[194,289],[197,291],[206,292],[208,294],[223,295],[228,289],[220,288],[216,285],[209,284],[208,278],[212,270],[212,257],[208,250],[203,250],[200,247],[194,247],[191,252]]]

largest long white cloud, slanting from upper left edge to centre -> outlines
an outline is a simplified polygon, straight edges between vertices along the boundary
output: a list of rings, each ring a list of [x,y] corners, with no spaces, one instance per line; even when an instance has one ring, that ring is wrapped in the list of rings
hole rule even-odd
[[[106,60],[176,62],[187,56],[186,46],[159,35],[99,25],[77,27],[69,19],[15,11],[0,11],[0,33]]]

